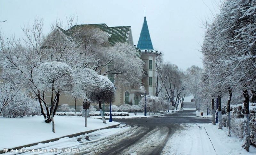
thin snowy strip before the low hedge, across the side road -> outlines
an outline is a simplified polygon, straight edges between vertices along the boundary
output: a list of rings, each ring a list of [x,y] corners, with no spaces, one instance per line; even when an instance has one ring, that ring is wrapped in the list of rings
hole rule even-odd
[[[175,111],[179,111],[179,110],[170,110],[170,112],[165,112],[165,114],[171,114]],[[135,115],[134,113],[129,113],[129,116],[112,116],[112,118],[144,118],[144,117],[153,117],[153,116],[162,116],[165,114],[161,114],[161,113],[147,113],[147,116],[144,116],[144,113],[137,113],[137,115]],[[92,118],[101,118],[101,116],[91,116]],[[109,118],[109,116],[105,116],[105,118]]]

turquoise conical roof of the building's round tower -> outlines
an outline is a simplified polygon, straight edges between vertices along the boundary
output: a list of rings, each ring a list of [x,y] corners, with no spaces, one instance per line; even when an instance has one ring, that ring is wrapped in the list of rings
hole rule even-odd
[[[140,32],[140,38],[138,41],[137,48],[154,50],[151,39],[150,39],[149,31],[148,31],[146,16],[144,17],[144,22]]]

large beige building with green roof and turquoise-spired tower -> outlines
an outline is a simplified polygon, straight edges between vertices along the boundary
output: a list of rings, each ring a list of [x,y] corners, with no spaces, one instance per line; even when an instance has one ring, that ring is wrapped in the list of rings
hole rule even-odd
[[[122,42],[134,46],[134,51],[136,55],[139,56],[144,62],[144,76],[142,77],[141,84],[135,86],[127,86],[118,84],[116,90],[116,99],[113,101],[114,105],[122,105],[122,104],[130,104],[130,105],[138,105],[141,99],[141,95],[145,94],[145,92],[150,94],[151,96],[155,96],[155,61],[156,55],[159,55],[157,51],[154,50],[149,31],[148,24],[146,20],[146,16],[144,17],[143,26],[140,33],[140,38],[138,41],[137,48],[133,44],[132,38],[132,30],[131,26],[115,26],[108,27],[106,24],[87,24],[87,25],[76,25],[70,28],[76,28],[77,26],[91,26],[95,28],[99,28],[103,32],[108,35],[108,42],[110,45],[115,45],[117,42]],[[69,29],[69,30],[70,30]],[[58,27],[58,31],[62,34],[67,35],[68,30],[63,30]],[[115,83],[115,76],[113,74],[108,75],[108,78]],[[49,100],[50,102],[50,100]],[[83,100],[77,99],[77,107],[82,106]],[[60,97],[59,106],[62,104],[68,104],[70,107],[75,106],[75,101],[70,96],[62,95]],[[79,109],[78,109],[79,110]]]

